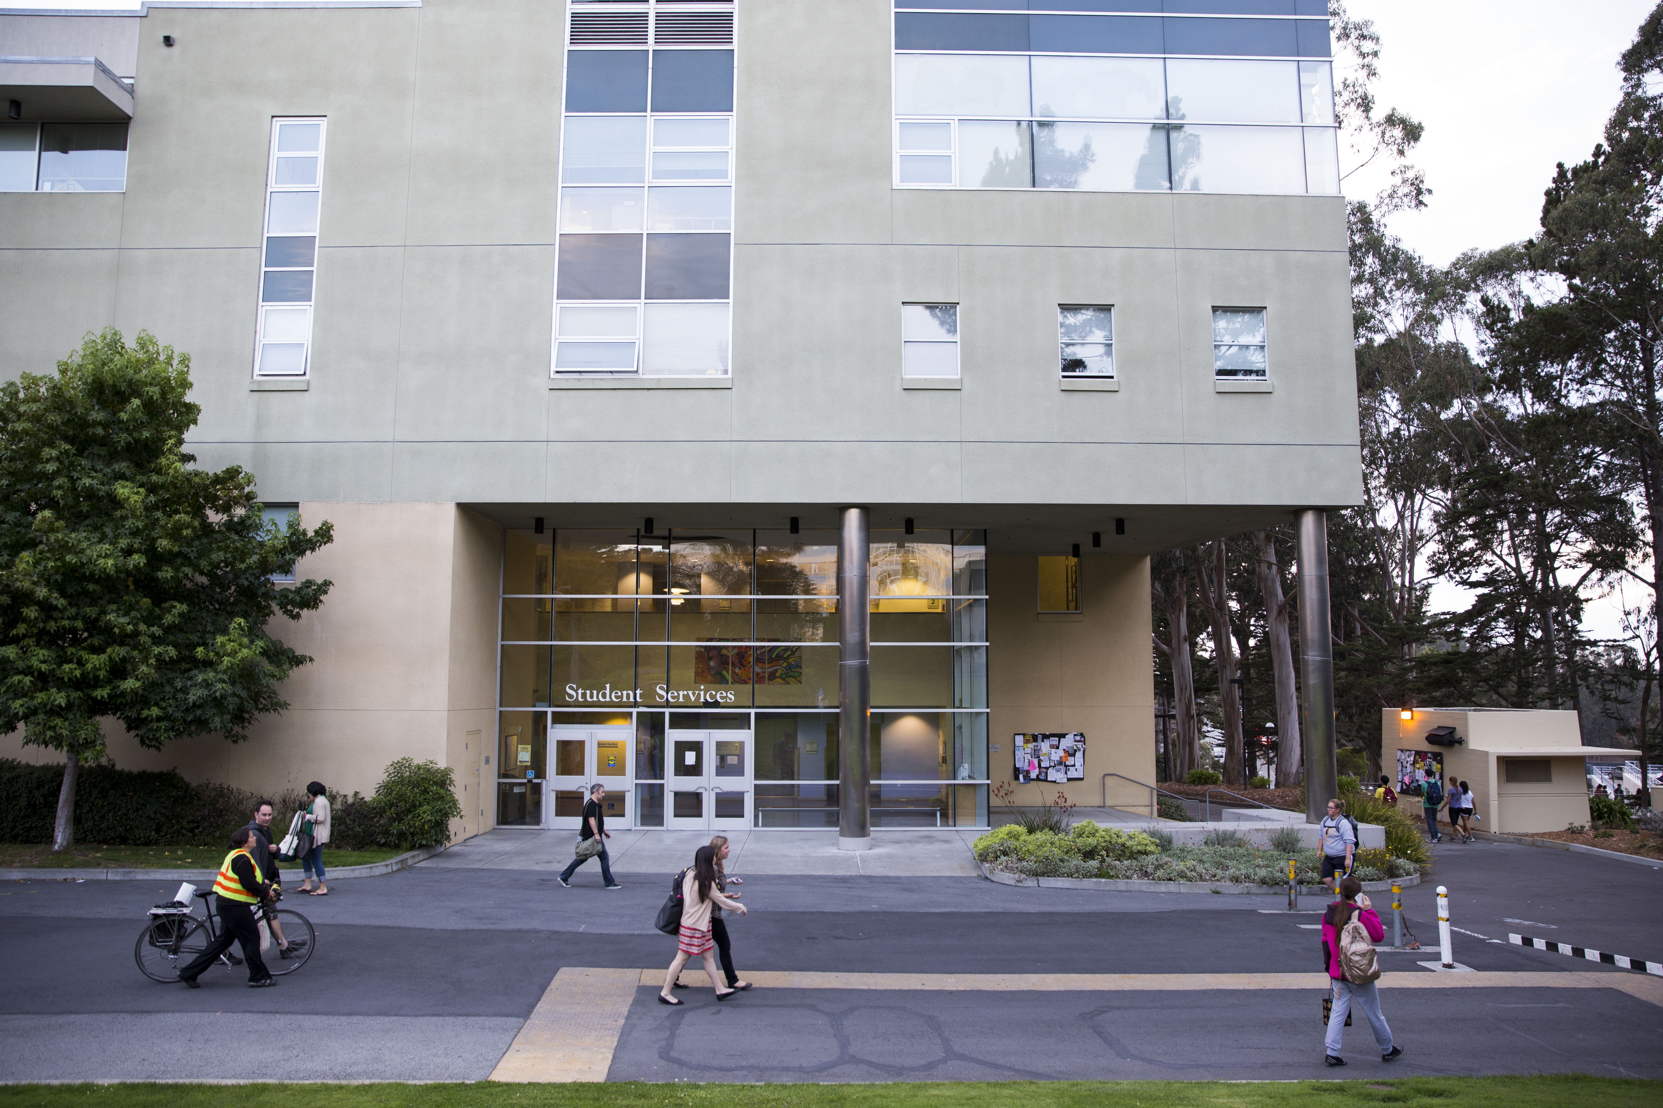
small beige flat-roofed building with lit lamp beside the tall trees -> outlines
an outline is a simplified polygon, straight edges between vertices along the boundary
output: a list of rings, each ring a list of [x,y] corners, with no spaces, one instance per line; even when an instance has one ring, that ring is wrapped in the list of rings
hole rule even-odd
[[[1628,751],[1583,746],[1575,711],[1415,708],[1380,713],[1380,764],[1407,802],[1437,774],[1472,786],[1480,831],[1530,834],[1588,822],[1588,757]],[[1400,801],[1402,802],[1402,801]]]

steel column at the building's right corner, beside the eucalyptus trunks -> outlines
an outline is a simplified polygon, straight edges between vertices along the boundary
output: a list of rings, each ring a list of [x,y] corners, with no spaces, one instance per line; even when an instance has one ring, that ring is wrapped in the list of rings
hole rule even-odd
[[[1305,693],[1305,822],[1320,824],[1339,796],[1334,764],[1334,633],[1329,625],[1329,515],[1299,513],[1299,678]]]

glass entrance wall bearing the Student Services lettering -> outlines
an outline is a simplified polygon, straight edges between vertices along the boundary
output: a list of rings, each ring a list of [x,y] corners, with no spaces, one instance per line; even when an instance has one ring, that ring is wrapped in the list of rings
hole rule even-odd
[[[875,530],[868,573],[873,826],[986,826],[983,532]],[[748,731],[750,824],[835,827],[836,603],[835,532],[512,530],[502,566],[504,736],[632,723],[634,822],[664,827],[675,819],[667,787],[675,733]],[[502,743],[499,781],[544,779],[545,739]],[[537,759],[530,777],[522,744]],[[506,797],[499,814],[519,812]],[[519,821],[535,822],[529,811]]]

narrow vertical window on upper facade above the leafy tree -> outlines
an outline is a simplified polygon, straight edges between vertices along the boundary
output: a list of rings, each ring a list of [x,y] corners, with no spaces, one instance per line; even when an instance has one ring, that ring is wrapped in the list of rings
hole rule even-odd
[[[311,360],[323,140],[321,118],[271,121],[256,377],[304,377]]]

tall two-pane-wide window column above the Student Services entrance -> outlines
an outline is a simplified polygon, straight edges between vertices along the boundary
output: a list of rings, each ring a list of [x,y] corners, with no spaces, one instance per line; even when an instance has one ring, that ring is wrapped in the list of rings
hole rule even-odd
[[[554,367],[732,369],[733,13],[570,5]]]

